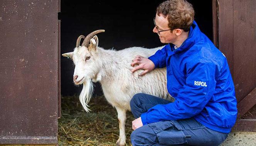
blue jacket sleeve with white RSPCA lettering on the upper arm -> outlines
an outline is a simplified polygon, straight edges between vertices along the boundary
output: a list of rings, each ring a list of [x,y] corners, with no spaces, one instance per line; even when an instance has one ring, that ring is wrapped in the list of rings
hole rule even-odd
[[[210,101],[215,87],[217,67],[213,63],[187,65],[186,83],[176,100],[167,105],[156,105],[141,114],[143,125],[165,120],[191,118],[199,114]]]

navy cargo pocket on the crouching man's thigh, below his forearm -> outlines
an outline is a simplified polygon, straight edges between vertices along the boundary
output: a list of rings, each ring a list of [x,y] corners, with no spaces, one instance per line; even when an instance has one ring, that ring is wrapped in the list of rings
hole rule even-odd
[[[157,134],[159,144],[187,144],[182,130],[179,130],[172,121],[151,123],[149,126]]]

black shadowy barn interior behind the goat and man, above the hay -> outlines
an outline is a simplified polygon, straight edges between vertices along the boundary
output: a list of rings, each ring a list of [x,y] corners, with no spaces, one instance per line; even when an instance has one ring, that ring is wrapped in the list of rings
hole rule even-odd
[[[154,48],[162,46],[158,35],[153,33],[153,18],[157,6],[164,0],[129,1],[61,1],[61,54],[70,52],[79,35],[98,34],[99,46],[121,50],[131,46]],[[195,9],[195,21],[200,30],[212,40],[212,1],[188,0]],[[82,86],[73,83],[74,65],[61,56],[61,95],[79,94]],[[95,84],[94,94],[102,95],[101,86]]]

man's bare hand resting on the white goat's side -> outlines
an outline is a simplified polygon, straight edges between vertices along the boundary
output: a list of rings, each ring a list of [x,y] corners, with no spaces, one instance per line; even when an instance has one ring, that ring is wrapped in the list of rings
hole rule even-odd
[[[146,73],[152,71],[155,68],[155,64],[148,58],[144,58],[140,55],[137,55],[133,62],[131,63],[131,66],[134,66],[135,64],[137,64],[138,66],[134,67],[131,72],[133,73],[136,70],[144,70],[140,76],[145,75]]]

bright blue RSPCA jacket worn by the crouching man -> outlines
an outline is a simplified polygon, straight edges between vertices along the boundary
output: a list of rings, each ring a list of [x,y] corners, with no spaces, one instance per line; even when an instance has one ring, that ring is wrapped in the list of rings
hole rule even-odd
[[[189,37],[179,48],[168,44],[149,59],[156,68],[167,67],[167,89],[175,101],[141,114],[143,125],[194,117],[212,130],[231,131],[237,103],[227,59],[200,32],[197,23],[192,24]]]

